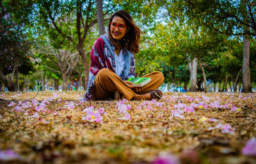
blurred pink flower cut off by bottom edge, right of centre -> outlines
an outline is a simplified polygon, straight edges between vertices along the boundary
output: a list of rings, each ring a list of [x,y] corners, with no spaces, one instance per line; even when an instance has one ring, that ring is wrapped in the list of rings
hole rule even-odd
[[[152,164],[179,164],[179,158],[173,154],[162,154],[152,161]]]

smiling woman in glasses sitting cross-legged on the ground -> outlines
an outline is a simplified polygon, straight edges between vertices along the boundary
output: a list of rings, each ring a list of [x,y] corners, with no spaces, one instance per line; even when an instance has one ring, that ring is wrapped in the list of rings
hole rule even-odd
[[[108,34],[98,38],[90,55],[90,74],[85,100],[159,100],[157,88],[163,73],[154,71],[143,77],[151,81],[143,87],[132,87],[127,80],[136,77],[134,54],[139,52],[140,29],[127,11],[116,11],[109,20]],[[120,96],[121,95],[121,96]]]

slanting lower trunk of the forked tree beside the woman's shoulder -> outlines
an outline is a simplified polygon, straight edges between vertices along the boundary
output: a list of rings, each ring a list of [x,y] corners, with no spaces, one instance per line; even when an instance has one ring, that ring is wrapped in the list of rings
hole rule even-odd
[[[88,60],[87,60],[86,54],[85,54],[84,49],[83,49],[83,45],[78,43],[76,45],[76,48],[77,48],[77,50],[79,52],[79,55],[81,56],[82,61],[83,61],[84,73],[85,73],[83,88],[84,88],[84,90],[86,90],[87,85],[88,85],[88,79],[89,79],[89,64],[88,64]]]

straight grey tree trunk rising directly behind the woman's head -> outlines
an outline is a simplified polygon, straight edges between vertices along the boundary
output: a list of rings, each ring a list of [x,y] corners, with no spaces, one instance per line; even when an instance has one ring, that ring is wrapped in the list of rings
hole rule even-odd
[[[104,27],[104,16],[103,16],[103,8],[102,8],[102,0],[97,0],[97,22],[99,26],[99,34],[105,34]]]

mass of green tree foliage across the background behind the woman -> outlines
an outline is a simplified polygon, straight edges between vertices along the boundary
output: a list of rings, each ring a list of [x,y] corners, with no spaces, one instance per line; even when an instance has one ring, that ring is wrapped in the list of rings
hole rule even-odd
[[[50,45],[56,49],[75,50],[81,43],[90,62],[89,54],[98,37],[95,2],[1,1],[5,13],[0,9],[3,13],[0,15],[0,68],[4,74],[12,72],[16,61],[19,61],[20,73],[28,75],[35,71],[35,64],[29,60],[29,41],[34,40],[33,37],[38,43],[50,41]],[[236,80],[243,64],[243,42],[241,38],[225,36],[216,31],[239,35],[245,32],[244,27],[250,26],[250,31],[246,33],[255,35],[253,21],[256,13],[252,1],[248,1],[246,8],[241,1],[231,0],[103,1],[106,22],[111,13],[121,9],[131,13],[142,31],[141,50],[135,56],[136,73],[141,76],[152,71],[162,71],[164,82],[187,82],[187,65],[194,58],[202,63],[207,79],[220,82],[228,75],[228,78]],[[248,9],[251,9],[252,15],[249,15],[249,19],[244,19]],[[6,15],[7,19],[3,15]],[[80,15],[83,20],[77,19]],[[250,69],[252,82],[255,83],[256,44],[255,38],[250,40]],[[36,57],[40,58],[42,63],[36,68],[39,74],[42,69],[47,78],[61,79],[60,69],[54,57],[44,54],[36,54]],[[49,68],[54,68],[54,71]],[[81,63],[77,64],[75,70],[70,78],[79,79],[86,75]],[[40,78],[39,74],[36,78]],[[197,76],[198,80],[202,78],[199,67]]]

